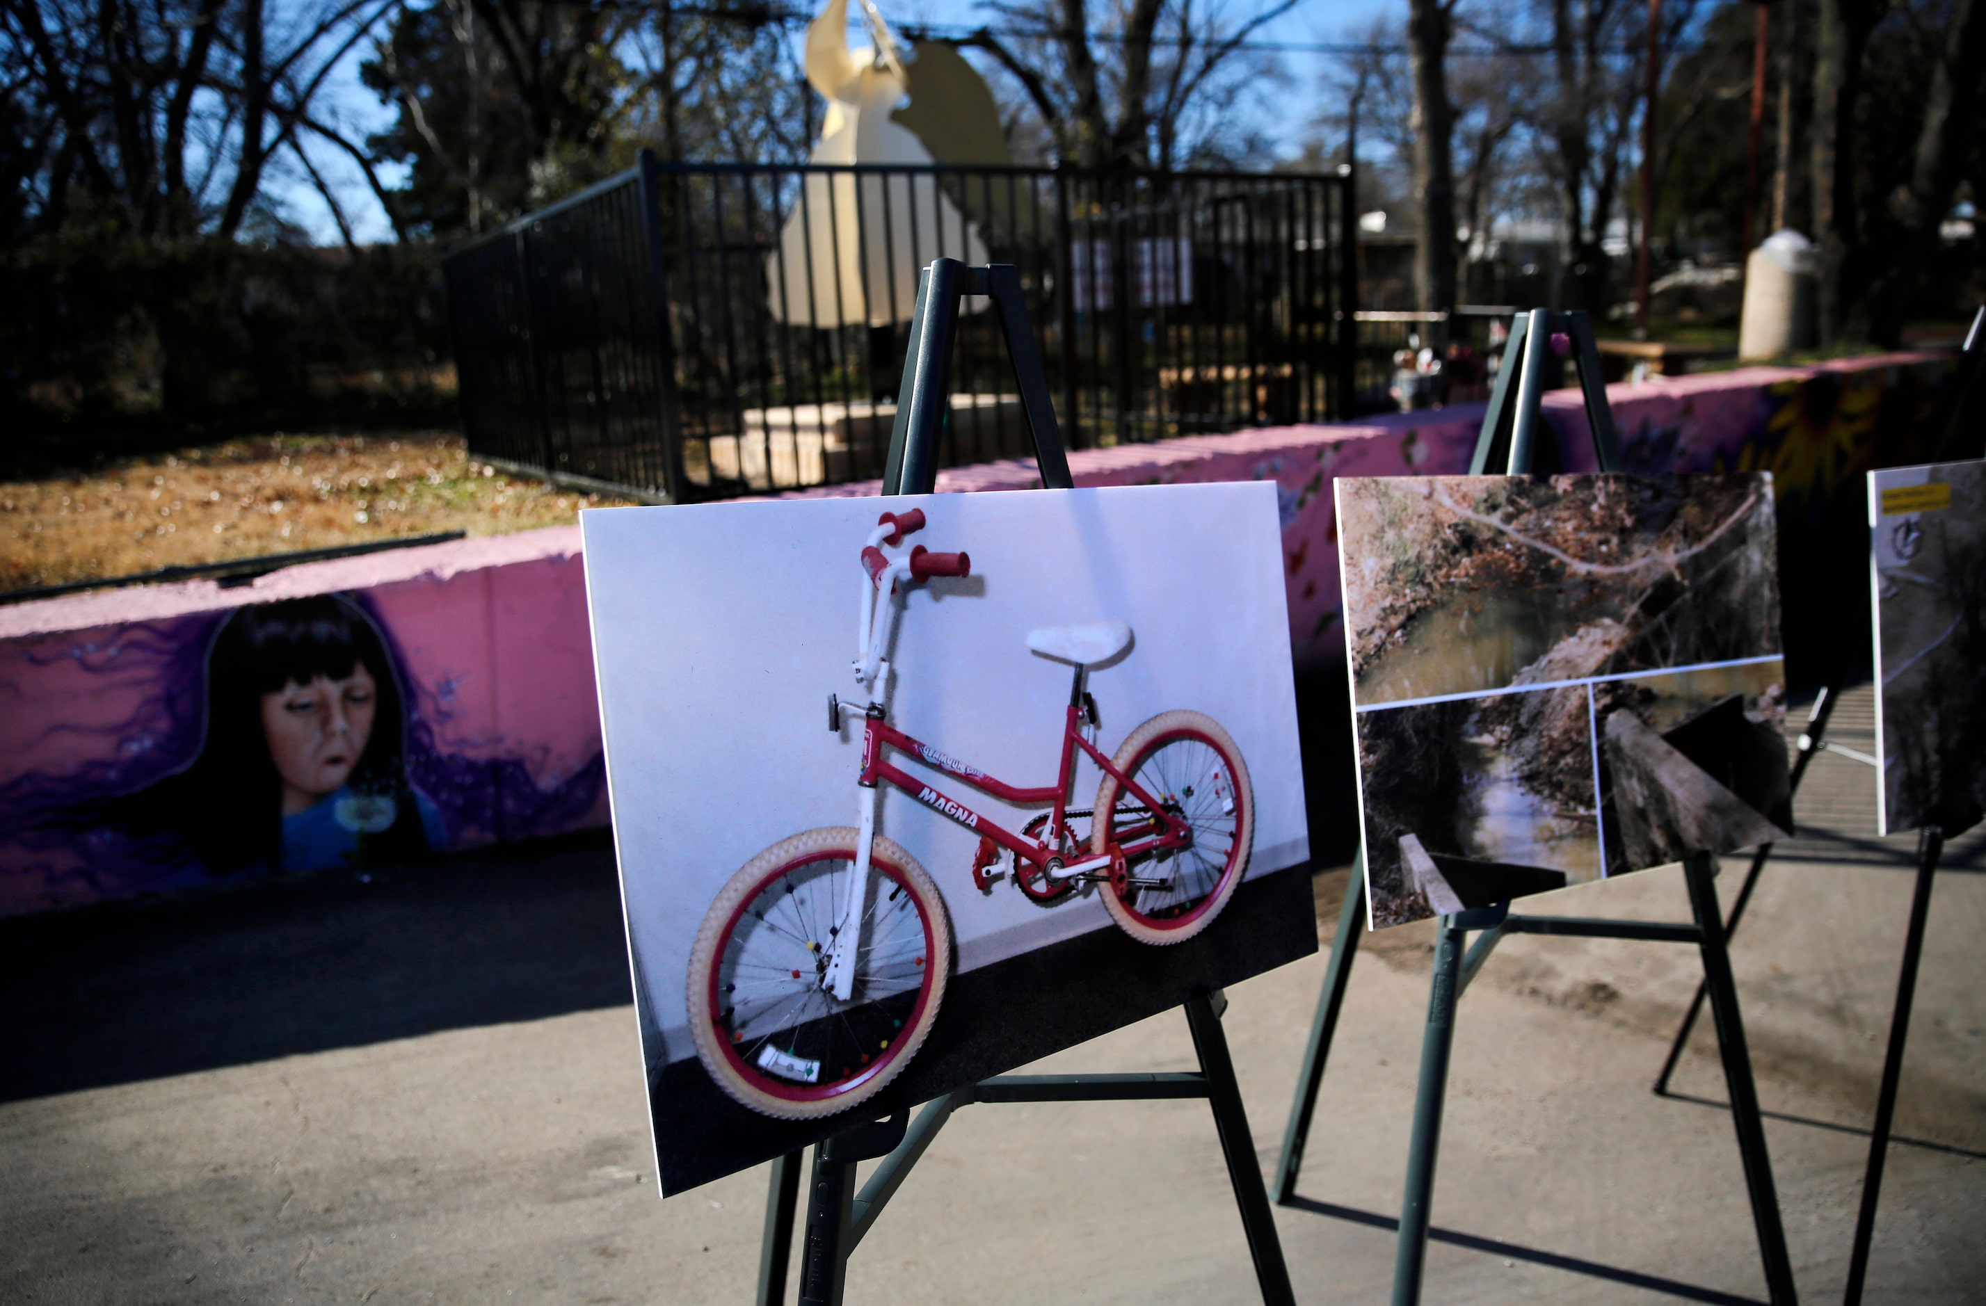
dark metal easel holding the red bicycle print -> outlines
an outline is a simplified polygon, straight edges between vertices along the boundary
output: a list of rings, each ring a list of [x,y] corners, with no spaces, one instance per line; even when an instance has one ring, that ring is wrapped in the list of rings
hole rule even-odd
[[[902,399],[890,433],[890,460],[884,494],[929,494],[937,480],[937,429],[949,389],[945,373],[959,322],[959,296],[991,296],[1001,333],[1021,389],[1021,407],[1035,439],[1035,460],[1047,488],[1074,488],[1063,437],[1049,403],[1049,383],[1027,326],[1021,276],[1011,264],[971,268],[955,258],[937,258],[918,278],[918,304],[910,320],[910,353],[904,361]],[[910,1121],[900,1111],[886,1121],[860,1121],[814,1147],[812,1183],[806,1201],[806,1239],[800,1254],[800,1306],[840,1306],[848,1276],[848,1256],[876,1225],[884,1203],[910,1175],[923,1149],[961,1106],[971,1102],[1130,1102],[1160,1098],[1206,1098],[1213,1127],[1227,1157],[1227,1177],[1241,1209],[1249,1254],[1263,1302],[1293,1306],[1289,1268],[1275,1233],[1269,1195],[1255,1163],[1247,1111],[1235,1082],[1227,1038],[1221,1034],[1219,990],[1196,992],[1186,1000],[1186,1024],[1200,1058],[1196,1074],[1066,1074],[999,1076],[969,1084],[927,1102]],[[856,1163],[882,1157],[876,1173],[856,1193]],[[777,1306],[786,1294],[786,1264],[792,1254],[794,1203],[800,1187],[800,1153],[773,1161],[767,1193],[765,1241],[759,1254],[759,1306]]]

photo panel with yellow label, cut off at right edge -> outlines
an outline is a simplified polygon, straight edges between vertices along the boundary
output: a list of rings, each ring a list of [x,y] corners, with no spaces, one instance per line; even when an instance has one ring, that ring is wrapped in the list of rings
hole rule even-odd
[[[1986,808],[1986,462],[1869,472],[1881,830]]]

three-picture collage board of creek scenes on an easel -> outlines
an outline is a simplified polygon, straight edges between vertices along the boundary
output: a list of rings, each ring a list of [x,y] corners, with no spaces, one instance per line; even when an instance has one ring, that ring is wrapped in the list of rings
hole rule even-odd
[[[1770,476],[1337,494],[1374,929],[1783,838]]]

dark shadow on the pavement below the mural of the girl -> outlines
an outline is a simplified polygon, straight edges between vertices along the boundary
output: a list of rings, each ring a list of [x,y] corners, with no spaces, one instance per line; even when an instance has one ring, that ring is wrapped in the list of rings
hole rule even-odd
[[[614,851],[600,830],[0,921],[0,1102],[618,1006]]]

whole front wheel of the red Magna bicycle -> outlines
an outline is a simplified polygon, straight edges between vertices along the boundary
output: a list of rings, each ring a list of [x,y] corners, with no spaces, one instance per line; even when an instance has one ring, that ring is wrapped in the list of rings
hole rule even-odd
[[[782,840],[745,863],[703,917],[689,953],[689,1032],[731,1098],[782,1119],[844,1111],[923,1046],[951,971],[937,885],[890,840],[870,848],[854,990],[824,988],[848,915],[856,832]]]

